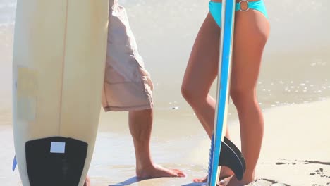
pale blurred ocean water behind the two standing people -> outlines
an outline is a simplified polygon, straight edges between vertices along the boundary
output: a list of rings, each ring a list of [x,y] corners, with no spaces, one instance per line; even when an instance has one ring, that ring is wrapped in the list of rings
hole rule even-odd
[[[180,87],[207,1],[126,0],[130,27],[155,85],[156,108],[189,111]],[[264,51],[258,96],[263,108],[317,101],[330,95],[330,1],[265,1],[271,35]],[[0,103],[11,97],[16,1],[0,0]],[[215,93],[215,86],[212,94]],[[10,100],[10,99],[9,99]]]

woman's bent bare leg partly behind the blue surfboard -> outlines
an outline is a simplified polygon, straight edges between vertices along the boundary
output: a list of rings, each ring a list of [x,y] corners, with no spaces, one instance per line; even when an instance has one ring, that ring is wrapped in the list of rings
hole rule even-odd
[[[197,35],[181,87],[183,97],[192,106],[210,138],[214,128],[216,103],[209,95],[209,89],[218,73],[219,39],[219,26],[208,14]],[[233,174],[228,168],[221,171],[221,176]],[[204,182],[206,178],[194,181]]]

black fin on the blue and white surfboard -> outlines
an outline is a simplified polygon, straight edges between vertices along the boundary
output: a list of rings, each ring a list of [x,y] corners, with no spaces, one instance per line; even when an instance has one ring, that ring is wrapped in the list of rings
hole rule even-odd
[[[224,137],[224,141],[221,143],[219,166],[231,168],[236,178],[242,180],[246,168],[245,159],[235,144],[226,137]]]

